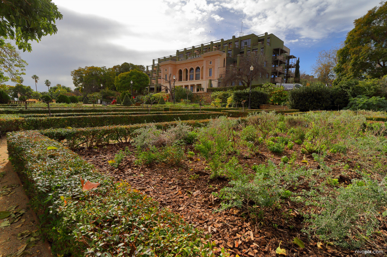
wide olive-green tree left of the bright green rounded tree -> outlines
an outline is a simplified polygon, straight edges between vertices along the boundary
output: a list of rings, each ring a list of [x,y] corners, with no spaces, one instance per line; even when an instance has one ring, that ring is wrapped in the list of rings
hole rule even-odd
[[[75,87],[84,87],[84,93],[94,93],[101,90],[101,88],[114,87],[115,73],[112,70],[103,67],[86,66],[79,67],[71,72],[73,84]],[[102,85],[102,86],[101,86]]]

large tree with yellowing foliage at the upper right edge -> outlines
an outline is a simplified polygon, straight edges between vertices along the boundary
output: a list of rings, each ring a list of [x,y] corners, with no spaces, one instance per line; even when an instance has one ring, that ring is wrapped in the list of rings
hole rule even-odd
[[[337,79],[379,78],[387,74],[387,2],[354,20],[337,51]]]

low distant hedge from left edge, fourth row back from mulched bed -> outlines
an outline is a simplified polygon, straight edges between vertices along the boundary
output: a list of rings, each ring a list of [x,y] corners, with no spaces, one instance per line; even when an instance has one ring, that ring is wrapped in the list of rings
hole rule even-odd
[[[50,108],[51,109],[51,108]],[[151,111],[162,111],[161,108],[152,108]],[[146,108],[54,108],[51,113],[85,113],[85,112],[147,112]],[[29,109],[1,109],[0,114],[29,114],[29,113],[48,113],[47,108],[29,108]]]

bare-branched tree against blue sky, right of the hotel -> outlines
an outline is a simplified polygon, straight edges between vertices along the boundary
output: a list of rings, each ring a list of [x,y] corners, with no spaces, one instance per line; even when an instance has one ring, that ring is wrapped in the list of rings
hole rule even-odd
[[[322,50],[316,58],[316,63],[312,65],[311,69],[317,78],[325,83],[332,84],[336,78],[334,68],[337,65],[337,50],[334,47],[330,50]]]

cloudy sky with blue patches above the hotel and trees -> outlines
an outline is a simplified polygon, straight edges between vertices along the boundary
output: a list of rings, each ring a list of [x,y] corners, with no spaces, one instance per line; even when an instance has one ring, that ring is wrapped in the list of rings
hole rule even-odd
[[[21,52],[29,63],[24,85],[38,91],[51,85],[74,88],[71,71],[124,62],[151,65],[176,50],[238,36],[274,34],[300,57],[311,74],[318,53],[339,46],[353,20],[380,0],[53,0],[63,14],[57,34],[32,42]]]

